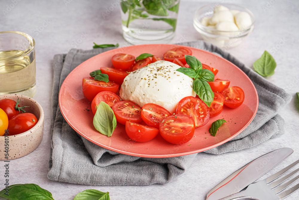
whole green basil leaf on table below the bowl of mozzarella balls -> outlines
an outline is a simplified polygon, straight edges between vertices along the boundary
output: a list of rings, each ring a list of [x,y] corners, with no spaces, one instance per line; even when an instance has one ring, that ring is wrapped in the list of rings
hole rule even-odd
[[[262,57],[253,63],[253,68],[261,76],[272,76],[276,68],[276,62],[271,54],[265,51]]]

